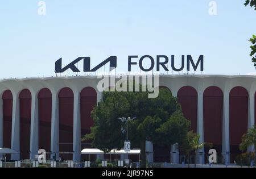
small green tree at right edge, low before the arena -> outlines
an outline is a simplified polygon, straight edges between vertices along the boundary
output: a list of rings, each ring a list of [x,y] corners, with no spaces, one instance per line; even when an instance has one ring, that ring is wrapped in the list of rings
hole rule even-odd
[[[252,127],[246,134],[242,136],[242,142],[239,145],[239,148],[242,152],[247,150],[247,147],[250,145],[256,146],[256,127]]]

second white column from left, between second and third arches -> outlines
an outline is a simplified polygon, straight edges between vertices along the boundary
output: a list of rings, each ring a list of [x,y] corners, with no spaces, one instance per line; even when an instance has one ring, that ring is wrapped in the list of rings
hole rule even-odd
[[[30,159],[38,155],[38,97],[31,99]]]

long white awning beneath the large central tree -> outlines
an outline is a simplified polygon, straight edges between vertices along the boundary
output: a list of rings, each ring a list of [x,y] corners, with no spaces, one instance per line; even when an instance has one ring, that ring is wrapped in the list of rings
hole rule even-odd
[[[129,152],[125,152],[125,150],[123,149],[119,151],[117,149],[113,149],[112,151],[106,154],[120,155],[120,154],[126,154],[126,153],[128,153],[129,155],[139,155],[141,153],[141,149],[131,149]],[[104,152],[97,148],[84,148],[82,149],[81,154],[104,154]]]

